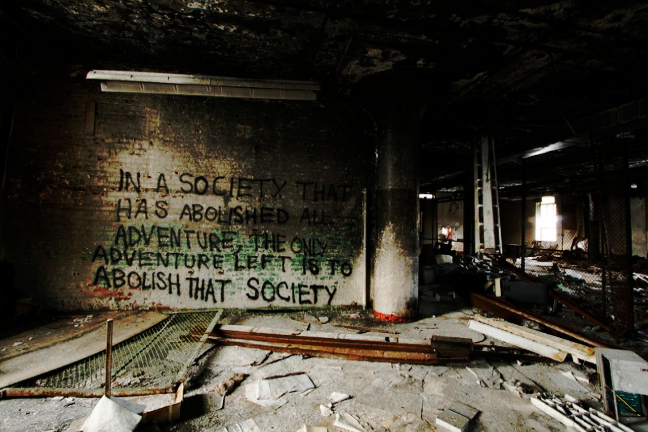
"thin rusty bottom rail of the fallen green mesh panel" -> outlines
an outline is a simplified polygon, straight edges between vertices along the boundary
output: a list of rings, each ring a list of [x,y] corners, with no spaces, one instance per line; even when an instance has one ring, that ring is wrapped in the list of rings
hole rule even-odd
[[[148,394],[165,394],[173,393],[174,387],[165,387],[159,389],[146,388],[117,388],[111,389],[111,396],[146,396]],[[51,387],[7,387],[0,390],[0,398],[25,398],[36,396],[39,398],[51,396],[64,396],[73,398],[100,398],[104,396],[104,389],[52,389]]]

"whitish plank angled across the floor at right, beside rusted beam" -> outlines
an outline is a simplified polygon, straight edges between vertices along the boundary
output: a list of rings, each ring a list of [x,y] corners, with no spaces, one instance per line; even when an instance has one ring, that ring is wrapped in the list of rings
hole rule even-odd
[[[472,326],[472,322],[470,323],[470,328],[472,330],[476,330],[476,328],[481,328],[482,330],[485,331],[491,331],[494,332],[494,330],[490,330],[489,328],[493,328],[496,330],[501,330],[504,331],[505,333],[510,334],[509,339],[513,339],[515,337],[515,340],[519,342],[520,339],[524,339],[528,342],[528,344],[537,344],[537,345],[544,345],[548,348],[553,348],[554,350],[558,350],[563,353],[571,354],[573,359],[578,359],[578,360],[583,360],[588,363],[592,363],[596,365],[596,354],[594,352],[594,348],[590,346],[585,346],[583,344],[579,344],[577,342],[572,342],[568,341],[566,339],[562,339],[560,337],[556,337],[553,335],[548,335],[546,333],[542,333],[542,331],[537,331],[533,330],[530,328],[522,327],[522,326],[517,326],[516,324],[511,324],[510,322],[506,322],[503,320],[495,320],[492,318],[485,318],[485,317],[480,317],[479,315],[476,315],[475,317],[476,321],[473,322],[479,322],[482,324],[481,326]],[[476,330],[478,331],[478,330]],[[481,333],[485,333],[485,331],[481,331]],[[487,334],[487,333],[485,333]],[[495,336],[493,336],[495,337]],[[500,338],[498,338],[500,339]],[[508,341],[505,341],[508,342]],[[513,342],[510,342],[513,343]],[[525,346],[518,345],[516,343],[513,343],[516,346],[520,346],[521,348],[526,348]],[[528,349],[528,348],[526,348]],[[531,350],[533,352],[538,352],[536,350]],[[541,354],[538,352],[538,354]]]

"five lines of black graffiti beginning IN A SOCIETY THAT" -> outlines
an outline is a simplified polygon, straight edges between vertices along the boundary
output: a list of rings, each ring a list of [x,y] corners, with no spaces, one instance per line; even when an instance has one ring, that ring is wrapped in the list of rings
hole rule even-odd
[[[353,274],[336,230],[350,217],[349,184],[120,169],[116,189],[116,228],[93,247],[95,286],[323,306]]]

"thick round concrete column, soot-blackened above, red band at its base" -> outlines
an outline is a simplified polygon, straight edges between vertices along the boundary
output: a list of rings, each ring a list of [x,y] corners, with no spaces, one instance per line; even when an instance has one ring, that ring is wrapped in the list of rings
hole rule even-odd
[[[411,105],[394,103],[376,123],[373,313],[402,322],[418,311],[419,122]]]

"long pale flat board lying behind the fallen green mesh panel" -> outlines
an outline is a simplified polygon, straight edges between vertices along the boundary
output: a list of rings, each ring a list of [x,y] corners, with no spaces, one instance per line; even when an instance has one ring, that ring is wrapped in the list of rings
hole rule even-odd
[[[148,311],[117,314],[113,318],[113,342],[125,341],[167,317],[163,313]],[[73,324],[69,326],[73,328]],[[0,389],[70,365],[105,349],[106,329],[100,326],[40,350],[5,359],[0,361]]]

